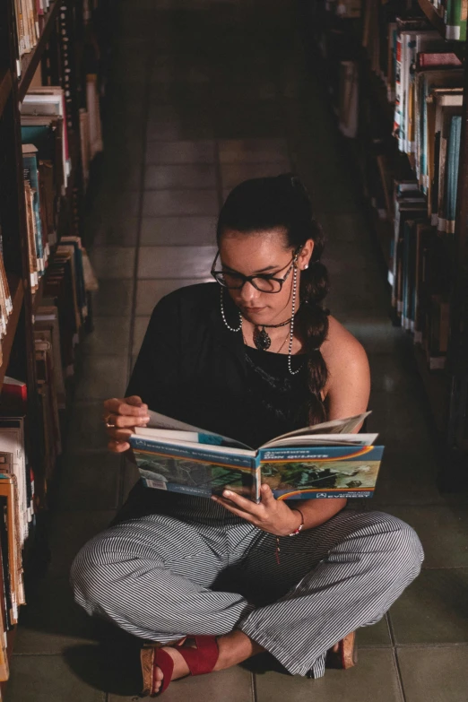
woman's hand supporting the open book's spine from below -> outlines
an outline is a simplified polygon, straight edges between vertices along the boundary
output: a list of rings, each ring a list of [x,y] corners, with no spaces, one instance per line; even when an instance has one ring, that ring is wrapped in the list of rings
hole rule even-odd
[[[275,536],[287,536],[299,527],[302,521],[299,512],[290,509],[281,499],[273,498],[269,485],[262,485],[260,494],[262,501],[258,505],[232,490],[224,490],[222,497],[213,495],[212,499],[229,509],[233,515],[241,516],[250,524]]]

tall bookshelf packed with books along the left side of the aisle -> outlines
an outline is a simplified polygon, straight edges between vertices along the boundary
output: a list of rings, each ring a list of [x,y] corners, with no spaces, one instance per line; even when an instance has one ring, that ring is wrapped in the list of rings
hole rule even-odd
[[[28,461],[25,459],[21,471],[27,504],[30,512],[36,514],[36,530],[46,521],[42,513],[48,507],[48,488],[55,479],[56,458],[60,453],[56,446],[60,444],[66,407],[73,395],[73,377],[67,377],[63,367],[59,373],[56,369],[71,348],[66,369],[73,373],[78,353],[76,341],[91,328],[90,316],[85,312],[88,293],[82,265],[82,245],[86,242],[82,241],[81,222],[87,185],[82,176],[82,158],[89,153],[86,120],[91,120],[91,111],[100,119],[99,96],[96,92],[95,104],[89,109],[86,81],[88,74],[100,70],[96,52],[105,49],[96,46],[93,30],[93,22],[100,22],[104,2],[4,0],[0,3],[0,256],[11,297],[1,338],[0,418],[8,415],[8,401],[12,399],[12,395],[6,394],[12,392],[9,389],[12,383],[6,382],[5,377],[13,377],[27,389],[27,401],[22,395],[22,410],[14,416],[25,417],[22,451]],[[30,21],[17,23],[20,16],[17,12],[27,7]],[[24,41],[25,34],[28,42]],[[36,100],[29,115],[28,100]],[[47,103],[44,111],[40,111],[40,100]],[[40,152],[42,147],[34,129],[41,135],[47,133],[48,149]],[[34,142],[36,138],[38,143]],[[26,150],[25,144],[28,144]],[[25,160],[25,151],[32,154],[29,163],[33,164],[34,172]],[[89,162],[86,165],[89,167]],[[0,295],[4,295],[4,282],[0,284]],[[3,297],[0,309],[4,319]],[[74,320],[73,329],[68,324],[69,318]],[[63,381],[60,388],[59,376]],[[4,451],[4,446],[0,437],[0,451]],[[10,468],[4,465],[2,472]],[[30,469],[34,472],[34,495]],[[16,465],[10,472],[18,477],[15,470]],[[12,496],[16,495],[14,499],[18,494],[12,492]],[[20,497],[18,505],[21,504]],[[40,542],[35,538],[37,534],[28,538],[32,528],[29,519],[21,540],[24,567],[26,556],[32,562],[34,542]],[[0,556],[5,562],[1,550]],[[6,557],[9,562],[9,554]],[[10,582],[8,577],[7,580],[8,587],[13,587],[13,580]],[[2,590],[0,628],[6,630],[9,659],[16,627],[3,593]],[[1,631],[0,636],[3,640]],[[0,658],[1,655],[0,651]],[[0,679],[0,699],[4,686],[5,681]]]

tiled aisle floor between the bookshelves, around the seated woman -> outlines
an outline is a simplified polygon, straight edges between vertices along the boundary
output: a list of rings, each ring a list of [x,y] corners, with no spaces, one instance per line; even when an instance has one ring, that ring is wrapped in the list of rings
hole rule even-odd
[[[259,663],[174,684],[167,702],[466,702],[468,500],[439,494],[410,342],[388,320],[388,291],[351,175],[297,39],[295,4],[121,0],[106,152],[87,222],[100,277],[96,330],[84,344],[51,562],[30,587],[9,702],[136,699],[132,640],[74,606],[74,553],[115,514],[134,471],[108,455],[104,398],[122,395],[154,304],[207,279],[216,214],[240,180],[295,169],[328,235],[329,307],[364,343],[386,457],[372,507],[412,524],[426,561],[384,620],[360,629],[360,662],[321,680]],[[155,6],[159,9],[155,9]],[[290,9],[288,7],[290,6]],[[254,9],[255,8],[255,9]]]

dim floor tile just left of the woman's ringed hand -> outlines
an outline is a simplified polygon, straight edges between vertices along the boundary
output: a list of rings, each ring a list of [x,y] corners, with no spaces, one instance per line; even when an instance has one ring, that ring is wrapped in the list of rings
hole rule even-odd
[[[104,412],[101,401],[73,404],[66,432],[65,453],[106,450],[108,435],[102,420]]]

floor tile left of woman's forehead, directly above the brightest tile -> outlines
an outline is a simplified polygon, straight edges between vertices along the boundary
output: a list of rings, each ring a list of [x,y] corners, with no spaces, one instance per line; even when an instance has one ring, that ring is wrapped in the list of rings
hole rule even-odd
[[[216,217],[143,217],[142,247],[214,244]]]

